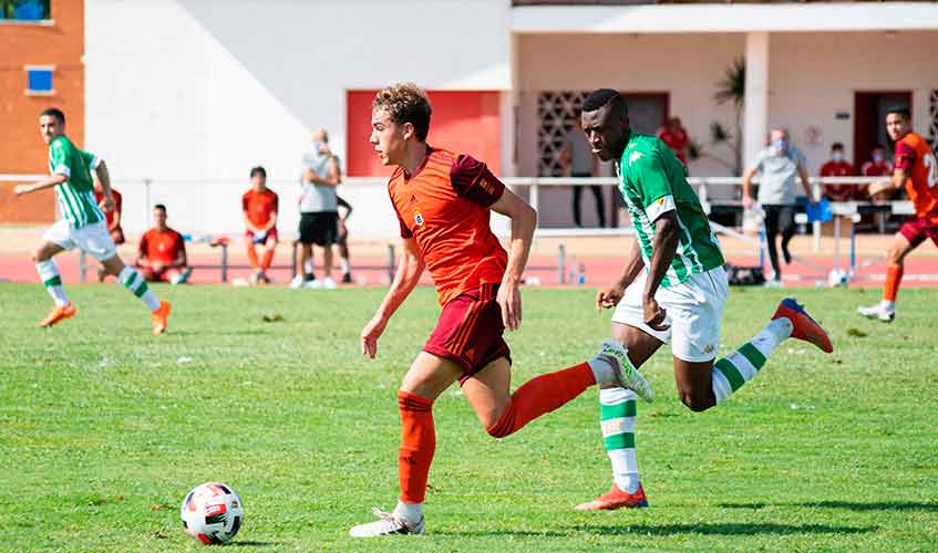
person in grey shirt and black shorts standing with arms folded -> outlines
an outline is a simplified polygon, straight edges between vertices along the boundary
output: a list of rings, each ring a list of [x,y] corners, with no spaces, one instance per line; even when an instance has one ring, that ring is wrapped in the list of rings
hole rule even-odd
[[[329,149],[329,134],[319,129],[312,135],[312,147],[302,157],[300,187],[299,243],[297,275],[290,288],[336,288],[332,280],[332,244],[339,240],[339,204],[336,187],[339,185],[339,163]],[[312,246],[322,248],[321,281],[312,271]],[[309,263],[308,263],[309,262]]]

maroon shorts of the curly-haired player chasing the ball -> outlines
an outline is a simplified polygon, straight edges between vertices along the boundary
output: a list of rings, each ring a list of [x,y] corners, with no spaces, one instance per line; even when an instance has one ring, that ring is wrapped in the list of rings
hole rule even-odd
[[[443,306],[440,321],[423,351],[450,359],[463,368],[463,384],[493,361],[512,362],[508,344],[502,337],[505,324],[502,309],[495,302],[498,284],[483,284]]]

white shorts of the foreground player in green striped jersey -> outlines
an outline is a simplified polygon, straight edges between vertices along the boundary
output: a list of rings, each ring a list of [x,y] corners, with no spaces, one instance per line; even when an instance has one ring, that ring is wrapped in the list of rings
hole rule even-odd
[[[661,342],[671,342],[674,357],[700,363],[717,357],[720,347],[720,319],[729,293],[726,272],[722,267],[704,273],[694,273],[677,286],[659,286],[654,299],[667,312],[667,331],[656,331],[645,324],[641,294],[647,273],[642,273],[626,289],[622,301],[616,306],[614,323],[635,326]],[[673,338],[673,341],[672,341]]]

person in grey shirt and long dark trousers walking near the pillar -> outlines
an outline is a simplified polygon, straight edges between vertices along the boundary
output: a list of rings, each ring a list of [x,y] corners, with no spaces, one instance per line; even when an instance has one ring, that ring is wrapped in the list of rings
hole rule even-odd
[[[792,146],[786,129],[772,131],[769,147],[759,153],[755,164],[743,175],[744,209],[752,209],[755,202],[752,198],[752,178],[756,175],[759,175],[759,204],[765,212],[765,242],[769,247],[769,260],[775,272],[774,278],[766,282],[766,285],[781,286],[782,270],[779,268],[775,237],[780,231],[782,232],[782,255],[785,258],[785,264],[791,263],[788,242],[795,236],[796,179],[801,179],[804,192],[808,201],[812,201],[804,155]]]

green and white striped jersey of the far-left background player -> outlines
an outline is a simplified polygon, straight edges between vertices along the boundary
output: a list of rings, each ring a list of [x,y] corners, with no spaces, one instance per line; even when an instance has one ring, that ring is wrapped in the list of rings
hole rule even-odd
[[[64,135],[49,144],[49,170],[69,178],[55,185],[55,199],[59,215],[72,228],[80,229],[104,220],[104,213],[94,200],[94,181],[91,178],[91,170],[99,163],[93,154],[79,149]]]

